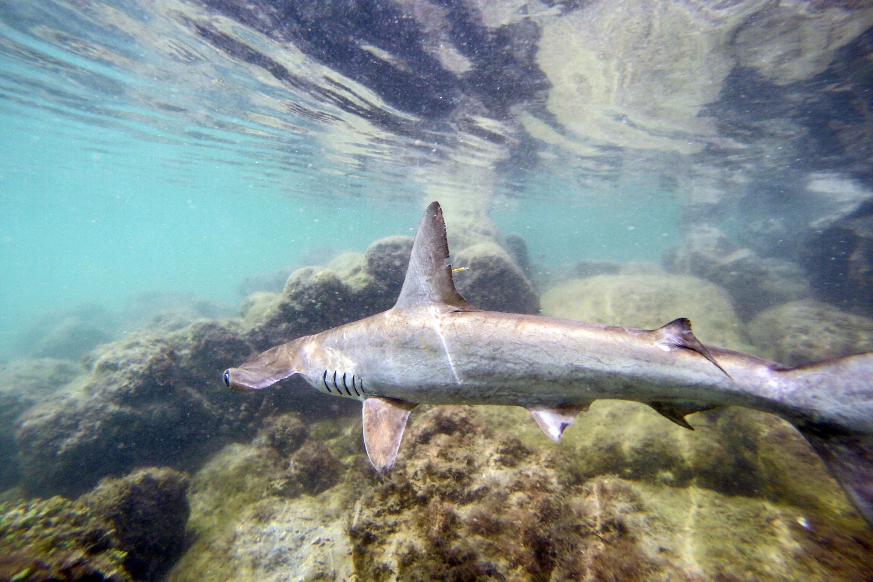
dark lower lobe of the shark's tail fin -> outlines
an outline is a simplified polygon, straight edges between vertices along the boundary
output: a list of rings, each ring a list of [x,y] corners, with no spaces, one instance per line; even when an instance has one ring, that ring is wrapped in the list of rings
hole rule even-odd
[[[800,430],[861,516],[873,527],[873,435],[828,435]]]

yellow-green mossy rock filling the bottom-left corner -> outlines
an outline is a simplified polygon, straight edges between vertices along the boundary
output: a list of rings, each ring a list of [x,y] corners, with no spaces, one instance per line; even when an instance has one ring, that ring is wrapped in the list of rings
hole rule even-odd
[[[63,497],[0,503],[0,579],[133,582],[113,525]]]

